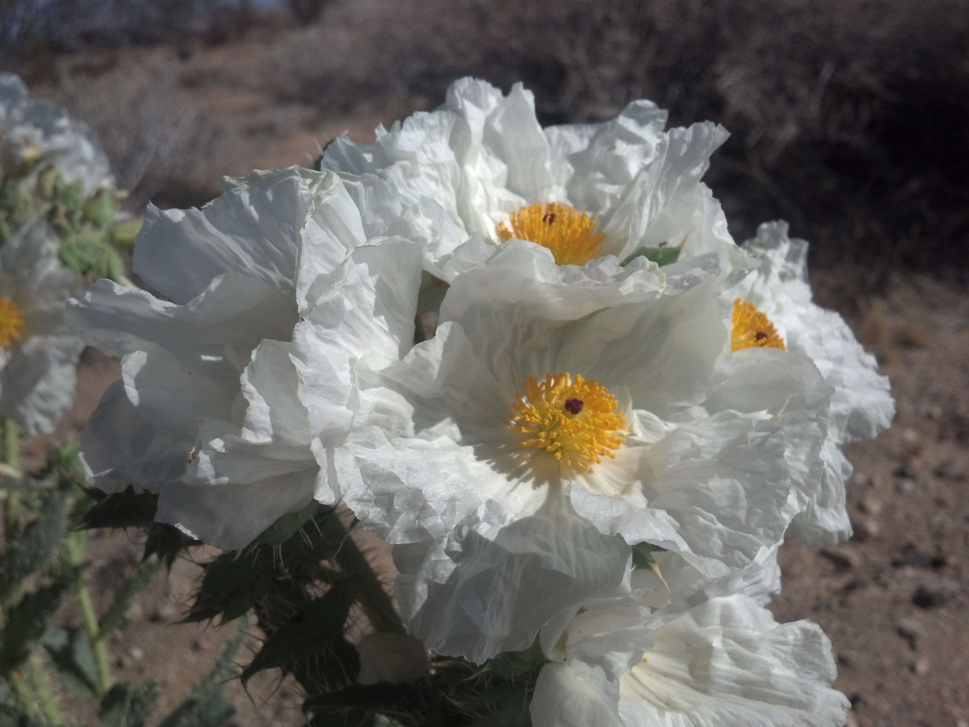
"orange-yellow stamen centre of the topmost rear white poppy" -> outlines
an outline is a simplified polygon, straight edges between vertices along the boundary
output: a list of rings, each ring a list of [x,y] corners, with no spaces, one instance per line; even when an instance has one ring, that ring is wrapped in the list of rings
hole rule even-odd
[[[549,202],[529,205],[512,212],[512,229],[502,222],[497,227],[502,239],[526,239],[551,250],[557,265],[585,265],[599,257],[599,248],[606,239],[595,232],[596,221],[575,207]]]

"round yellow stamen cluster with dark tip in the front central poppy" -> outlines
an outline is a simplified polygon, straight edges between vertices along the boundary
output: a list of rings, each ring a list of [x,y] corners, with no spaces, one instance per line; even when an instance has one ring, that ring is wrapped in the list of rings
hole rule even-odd
[[[572,374],[546,374],[545,381],[529,376],[513,405],[512,429],[531,435],[522,447],[552,453],[567,467],[588,470],[625,441],[620,432],[626,418],[615,396],[595,379]]]

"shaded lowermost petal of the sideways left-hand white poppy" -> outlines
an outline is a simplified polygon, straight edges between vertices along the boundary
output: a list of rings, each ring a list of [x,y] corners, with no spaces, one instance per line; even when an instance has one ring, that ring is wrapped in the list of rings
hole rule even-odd
[[[315,480],[316,472],[305,469],[245,485],[172,482],[161,490],[155,520],[232,551],[249,545],[281,516],[309,504]]]

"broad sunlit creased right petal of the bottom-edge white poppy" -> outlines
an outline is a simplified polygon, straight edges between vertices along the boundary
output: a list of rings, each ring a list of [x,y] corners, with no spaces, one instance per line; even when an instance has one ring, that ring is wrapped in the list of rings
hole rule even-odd
[[[828,688],[830,642],[810,621],[778,624],[742,596],[716,598],[656,630],[646,661],[620,680],[626,727],[841,727]]]

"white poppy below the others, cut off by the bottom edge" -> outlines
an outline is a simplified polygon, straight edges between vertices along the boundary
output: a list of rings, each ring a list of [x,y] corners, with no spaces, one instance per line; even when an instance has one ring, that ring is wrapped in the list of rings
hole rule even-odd
[[[635,604],[576,616],[532,697],[536,727],[841,727],[830,642],[743,595],[671,612]]]

